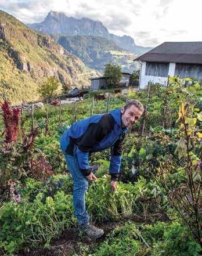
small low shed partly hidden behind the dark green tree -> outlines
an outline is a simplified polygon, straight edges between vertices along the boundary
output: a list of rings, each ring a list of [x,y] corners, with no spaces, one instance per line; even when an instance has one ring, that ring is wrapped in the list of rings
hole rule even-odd
[[[122,73],[121,81],[117,86],[129,86],[130,73]],[[105,77],[93,77],[91,80],[91,90],[100,90],[107,86],[107,81]]]

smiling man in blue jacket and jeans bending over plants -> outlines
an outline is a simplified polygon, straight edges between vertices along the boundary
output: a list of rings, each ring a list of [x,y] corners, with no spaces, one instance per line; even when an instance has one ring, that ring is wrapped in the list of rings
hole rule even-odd
[[[111,147],[110,186],[115,192],[121,165],[122,140],[128,128],[139,120],[143,111],[140,102],[131,100],[121,109],[113,110],[109,114],[94,115],[75,122],[60,139],[60,146],[74,181],[73,203],[78,229],[88,236],[98,238],[104,233],[102,229],[89,223],[89,215],[85,209],[88,182],[96,180],[89,167],[88,157],[92,152]]]

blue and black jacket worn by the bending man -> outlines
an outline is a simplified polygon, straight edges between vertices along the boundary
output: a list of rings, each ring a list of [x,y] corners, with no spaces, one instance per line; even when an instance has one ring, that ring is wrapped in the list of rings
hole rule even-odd
[[[121,128],[121,109],[75,122],[60,138],[63,154],[77,154],[82,173],[91,173],[89,154],[111,147],[110,174],[116,180],[121,165],[122,140],[128,128]]]

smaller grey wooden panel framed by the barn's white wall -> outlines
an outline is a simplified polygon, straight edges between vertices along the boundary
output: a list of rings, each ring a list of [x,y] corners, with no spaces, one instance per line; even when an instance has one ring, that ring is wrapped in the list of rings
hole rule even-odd
[[[145,75],[154,77],[168,77],[169,63],[147,62]]]

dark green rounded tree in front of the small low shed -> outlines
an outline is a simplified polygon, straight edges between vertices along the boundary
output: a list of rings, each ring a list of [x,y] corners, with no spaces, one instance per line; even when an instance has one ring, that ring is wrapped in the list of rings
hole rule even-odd
[[[107,86],[115,86],[122,78],[121,66],[107,64],[104,69],[104,77],[106,78]]]

